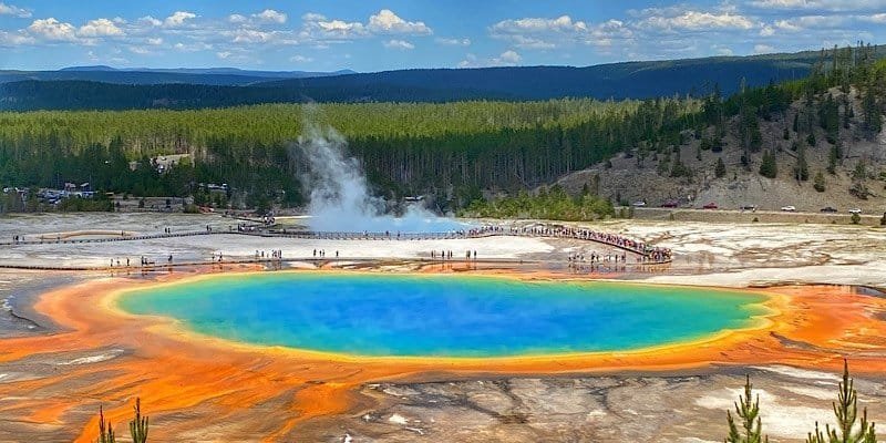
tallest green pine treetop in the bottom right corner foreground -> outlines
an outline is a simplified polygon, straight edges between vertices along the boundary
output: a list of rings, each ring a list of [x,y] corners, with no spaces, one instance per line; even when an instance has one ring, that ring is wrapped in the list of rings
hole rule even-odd
[[[849,363],[843,360],[843,382],[839,383],[837,401],[833,403],[837,424],[834,429],[825,424],[824,432],[815,423],[815,431],[806,437],[806,443],[876,443],[874,423],[867,421],[867,408],[858,420],[858,398],[849,378]],[[856,422],[858,425],[856,426]]]

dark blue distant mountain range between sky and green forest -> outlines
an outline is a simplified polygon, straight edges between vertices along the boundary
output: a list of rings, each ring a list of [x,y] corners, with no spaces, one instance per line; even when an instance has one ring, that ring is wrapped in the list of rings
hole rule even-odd
[[[886,48],[875,48],[886,56]],[[0,71],[0,110],[195,109],[257,103],[445,102],[723,94],[803,79],[820,51],[625,62],[587,68],[415,69],[375,73],[217,69]],[[3,83],[6,82],[6,83]]]

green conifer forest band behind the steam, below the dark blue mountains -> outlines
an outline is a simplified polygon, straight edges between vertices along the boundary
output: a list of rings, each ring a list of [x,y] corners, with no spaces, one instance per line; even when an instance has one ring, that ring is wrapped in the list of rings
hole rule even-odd
[[[758,122],[784,113],[796,100],[808,102],[800,126],[813,121],[833,126],[834,115],[846,113],[845,106],[824,99],[834,86],[861,91],[864,115],[859,117],[874,134],[882,125],[886,96],[886,63],[876,59],[873,48],[865,45],[822,51],[807,79],[740,85],[740,92],[728,97],[713,86],[701,99],[618,102],[7,112],[0,113],[0,184],[91,182],[97,189],[136,196],[186,196],[199,194],[197,183],[227,183],[247,206],[260,200],[299,205],[303,164],[292,146],[306,125],[316,124],[336,127],[347,137],[350,153],[361,159],[379,193],[434,194],[441,208],[454,209],[477,198],[481,190],[516,194],[621,152],[667,153],[693,137],[717,151],[730,125],[738,125],[743,150],[759,152],[765,146]],[[150,157],[178,153],[192,154],[193,161],[165,174],[150,165]],[[130,171],[130,161],[141,163],[135,172]],[[672,166],[668,173],[679,176],[679,165]]]

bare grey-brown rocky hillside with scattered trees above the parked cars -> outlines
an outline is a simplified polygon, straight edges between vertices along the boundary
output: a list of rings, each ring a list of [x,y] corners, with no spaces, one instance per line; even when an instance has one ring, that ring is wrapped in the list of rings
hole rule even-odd
[[[837,87],[830,92],[838,101],[845,95]],[[701,208],[708,203],[715,203],[720,208],[727,209],[754,205],[769,210],[790,205],[801,212],[817,212],[832,206],[844,214],[849,208],[861,208],[865,214],[882,214],[886,212],[886,131],[879,134],[865,131],[858,117],[862,114],[858,92],[852,90],[848,95],[855,117],[851,119],[848,128],[841,126],[837,143],[843,157],[835,174],[826,171],[832,145],[827,143],[824,130],[818,126],[817,117],[813,127],[816,138],[814,146],[808,145],[805,132],[792,131],[794,115],[807,112],[806,104],[797,101],[784,115],[774,115],[771,121],[760,119],[763,146],[760,152],[751,154],[751,163],[746,167],[741,162],[742,148],[738,138],[736,116],[728,124],[722,152],[702,151],[699,148],[700,140],[691,134],[684,137],[687,143],[678,150],[680,161],[692,172],[691,177],[671,177],[669,165],[672,163],[667,163],[664,154],[653,152],[640,159],[638,150],[633,150],[611,158],[610,164],[600,163],[563,176],[557,184],[570,193],[579,193],[587,185],[591,192],[610,197],[617,204],[646,202],[649,206],[660,206],[664,202],[677,200],[680,207]],[[789,140],[783,137],[785,127],[790,131]],[[806,182],[796,181],[793,176],[796,153],[791,147],[795,141],[805,146],[810,173]],[[763,153],[767,150],[776,158],[775,178],[760,175]],[[671,159],[676,155],[674,151]],[[721,178],[717,178],[714,174],[718,157],[722,158],[727,167],[727,174]],[[666,162],[663,166],[662,162]],[[855,171],[859,162],[865,165],[864,179],[854,178],[857,176]],[[817,192],[813,187],[813,177],[817,171],[825,178],[824,192]],[[857,182],[864,183],[870,193],[866,199],[849,192]]]

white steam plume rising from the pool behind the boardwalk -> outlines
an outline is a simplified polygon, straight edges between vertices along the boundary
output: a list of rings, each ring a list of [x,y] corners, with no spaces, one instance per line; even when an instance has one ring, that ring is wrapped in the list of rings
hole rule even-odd
[[[309,226],[317,231],[423,233],[461,229],[462,224],[437,217],[410,205],[402,217],[389,214],[388,203],[369,192],[367,177],[357,158],[344,154],[347,141],[332,127],[309,125],[299,137],[298,154],[307,173],[301,174],[310,189]]]

